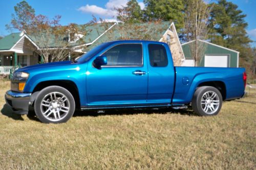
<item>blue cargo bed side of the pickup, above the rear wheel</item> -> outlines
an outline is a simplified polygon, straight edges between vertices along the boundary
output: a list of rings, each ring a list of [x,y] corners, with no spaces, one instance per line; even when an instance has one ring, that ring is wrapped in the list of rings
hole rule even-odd
[[[245,89],[243,72],[245,68],[175,67],[176,81],[172,104],[190,103],[196,88],[207,85],[207,82],[222,85],[219,90],[225,91],[223,100],[239,99]]]

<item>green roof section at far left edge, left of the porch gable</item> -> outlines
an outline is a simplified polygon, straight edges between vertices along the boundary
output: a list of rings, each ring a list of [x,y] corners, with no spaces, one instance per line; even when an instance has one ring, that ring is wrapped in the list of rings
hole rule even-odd
[[[12,33],[0,40],[0,50],[10,50],[11,47],[20,39],[20,33]]]

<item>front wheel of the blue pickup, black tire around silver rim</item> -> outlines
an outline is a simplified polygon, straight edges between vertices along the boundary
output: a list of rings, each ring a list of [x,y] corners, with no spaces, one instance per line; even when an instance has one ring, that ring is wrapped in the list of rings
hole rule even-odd
[[[52,93],[54,93],[55,99],[57,99],[57,100],[54,100],[54,96],[52,98]],[[58,101],[58,99],[61,96],[60,94],[65,96],[65,98],[63,98],[63,99],[67,99],[67,100],[65,100],[65,102]],[[57,98],[57,95],[60,95],[59,98]],[[45,107],[44,103],[43,104],[41,104],[41,103],[42,103],[42,100],[46,101],[47,96],[49,96],[49,100],[48,100],[49,104],[47,103],[49,106]],[[61,100],[61,99],[59,99],[59,100]],[[56,106],[56,108],[55,108],[55,105],[56,105],[55,102],[56,102],[56,104],[57,103],[59,104],[59,105],[57,105],[58,107]],[[53,106],[52,103],[54,103],[55,105]],[[61,103],[63,103],[63,104],[61,104]],[[66,106],[65,105],[66,103],[68,105],[68,107],[67,107],[68,110],[65,110],[65,112],[62,112],[61,109],[62,109],[62,107]],[[49,86],[49,87],[42,89],[38,93],[37,98],[35,100],[34,109],[35,109],[35,114],[36,114],[37,118],[42,123],[53,123],[53,124],[65,123],[74,114],[75,100],[74,100],[72,94],[67,89],[60,87],[60,86]],[[51,113],[48,112],[49,116],[46,116],[46,112],[45,112],[45,114],[43,113],[44,109],[49,110],[51,112]],[[58,111],[56,111],[57,109],[58,109]],[[57,112],[59,112],[59,113],[57,113]],[[48,113],[47,113],[47,115],[48,115]],[[63,113],[63,114],[61,114],[61,113]],[[56,118],[57,114],[59,115],[59,119]]]

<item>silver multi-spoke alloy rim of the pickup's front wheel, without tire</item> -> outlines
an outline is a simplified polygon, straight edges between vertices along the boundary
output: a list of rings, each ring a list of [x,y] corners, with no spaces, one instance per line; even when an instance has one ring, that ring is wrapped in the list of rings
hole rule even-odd
[[[51,92],[42,99],[40,109],[45,118],[56,122],[67,116],[70,110],[70,101],[63,93]]]

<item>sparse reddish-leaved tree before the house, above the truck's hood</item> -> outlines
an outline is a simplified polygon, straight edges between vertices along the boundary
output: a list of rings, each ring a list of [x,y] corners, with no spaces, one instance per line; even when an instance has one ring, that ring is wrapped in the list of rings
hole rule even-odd
[[[68,26],[59,24],[60,16],[50,20],[47,16],[38,15],[33,18],[28,34],[38,45],[35,51],[44,57],[45,62],[62,61],[69,56],[71,43],[84,43],[80,37],[87,34],[86,25],[78,26],[71,23]],[[78,41],[76,41],[78,40]]]

